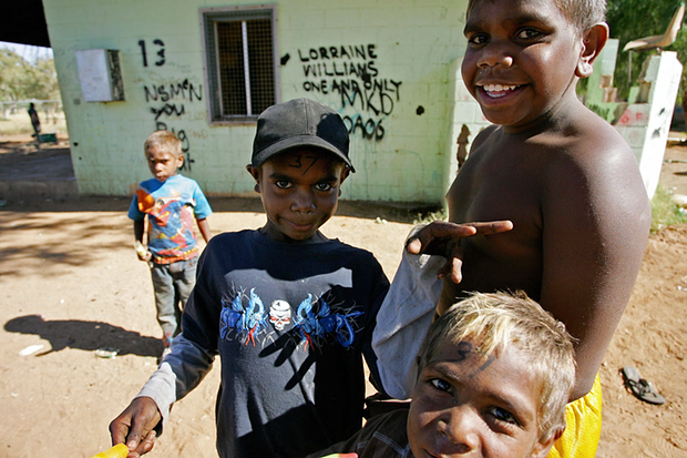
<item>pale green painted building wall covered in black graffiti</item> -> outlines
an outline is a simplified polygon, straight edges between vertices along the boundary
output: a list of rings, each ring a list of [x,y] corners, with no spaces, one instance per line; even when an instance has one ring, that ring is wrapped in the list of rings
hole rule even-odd
[[[255,123],[208,124],[198,14],[201,8],[249,3],[43,0],[43,4],[80,193],[130,195],[150,176],[143,142],[163,122],[183,132],[187,160],[193,162],[182,173],[198,181],[208,195],[253,195],[245,165]],[[474,134],[479,129],[473,124],[485,123],[460,81],[465,6],[466,0],[278,2],[281,100],[308,96],[332,106],[353,125],[360,119],[368,128],[376,126],[366,133],[360,125],[353,128],[357,173],[344,185],[342,199],[443,201],[455,173],[457,132],[468,123]],[[320,77],[321,68],[315,74],[308,65],[336,61],[322,58],[320,47],[366,50],[366,59],[358,62],[372,63],[379,84],[369,101],[359,98],[353,106],[345,106],[341,93],[332,90],[332,78]],[[85,49],[120,51],[125,101],[83,101],[75,51]],[[163,49],[164,62],[157,54]],[[163,92],[171,88],[178,92],[167,101],[154,100],[151,94],[161,86]]]

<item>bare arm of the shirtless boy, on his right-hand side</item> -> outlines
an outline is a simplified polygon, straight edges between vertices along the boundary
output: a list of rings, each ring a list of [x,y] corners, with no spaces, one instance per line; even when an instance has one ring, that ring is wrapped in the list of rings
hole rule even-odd
[[[621,320],[646,247],[650,207],[632,153],[595,151],[557,164],[542,193],[540,302],[577,339],[577,383],[592,388]]]

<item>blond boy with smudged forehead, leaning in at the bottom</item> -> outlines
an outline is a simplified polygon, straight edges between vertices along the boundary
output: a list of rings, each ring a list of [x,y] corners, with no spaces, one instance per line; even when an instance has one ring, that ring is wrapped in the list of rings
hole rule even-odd
[[[543,458],[565,429],[573,353],[565,326],[524,294],[475,293],[431,325],[410,410],[309,458]]]

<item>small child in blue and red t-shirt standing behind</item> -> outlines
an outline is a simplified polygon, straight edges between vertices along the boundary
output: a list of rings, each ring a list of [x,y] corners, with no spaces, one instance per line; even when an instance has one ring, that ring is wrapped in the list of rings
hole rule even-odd
[[[134,221],[139,259],[152,261],[157,323],[162,327],[165,353],[181,330],[182,311],[195,284],[199,247],[194,218],[207,243],[212,235],[207,216],[213,211],[198,184],[182,176],[182,142],[173,132],[157,131],[145,140],[145,159],[154,179],[139,185],[129,217]],[[143,233],[147,216],[147,250]]]

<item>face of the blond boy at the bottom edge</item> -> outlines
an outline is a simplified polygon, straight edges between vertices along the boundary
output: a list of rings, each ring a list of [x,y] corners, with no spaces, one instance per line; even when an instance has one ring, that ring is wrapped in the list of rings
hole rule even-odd
[[[439,347],[416,385],[408,438],[416,458],[545,457],[539,441],[541,383],[512,345],[485,358],[469,340]]]

